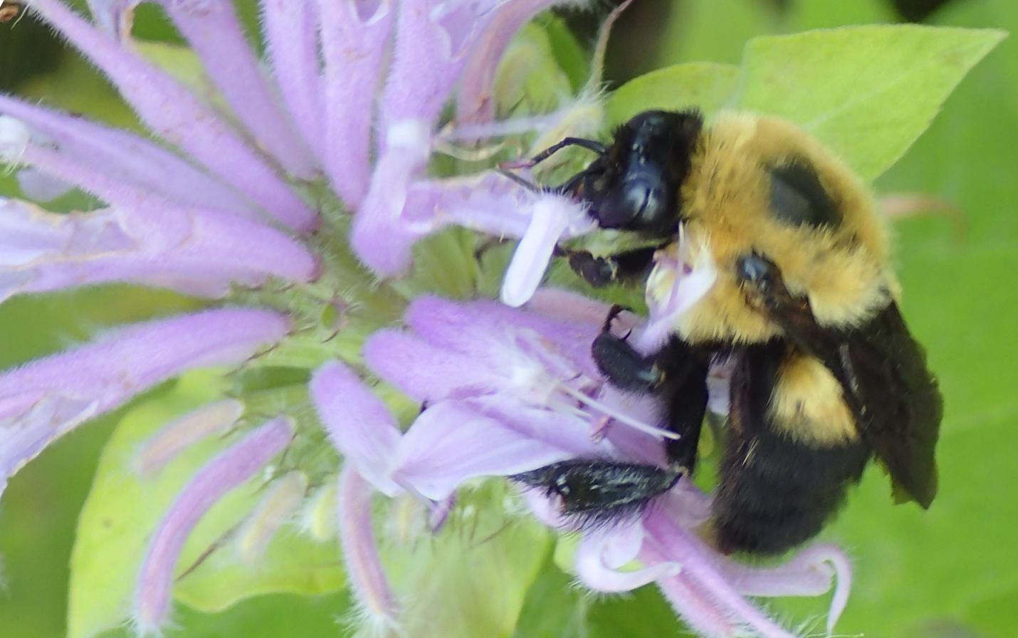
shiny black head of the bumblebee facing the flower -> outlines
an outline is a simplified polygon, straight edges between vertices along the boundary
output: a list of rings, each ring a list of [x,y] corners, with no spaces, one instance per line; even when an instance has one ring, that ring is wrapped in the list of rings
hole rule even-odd
[[[589,204],[602,228],[672,236],[702,123],[696,111],[640,113],[619,127],[612,144],[566,189]]]

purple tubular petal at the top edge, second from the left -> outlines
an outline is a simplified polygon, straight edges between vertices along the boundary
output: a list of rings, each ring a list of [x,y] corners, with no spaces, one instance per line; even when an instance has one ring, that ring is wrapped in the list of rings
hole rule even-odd
[[[159,4],[202,58],[216,88],[259,148],[272,155],[287,173],[302,179],[313,177],[315,163],[259,69],[233,3],[159,0]]]

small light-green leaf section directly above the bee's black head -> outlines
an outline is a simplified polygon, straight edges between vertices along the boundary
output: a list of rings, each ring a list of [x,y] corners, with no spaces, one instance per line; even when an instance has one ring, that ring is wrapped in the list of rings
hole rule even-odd
[[[698,108],[713,113],[723,108],[739,84],[739,67],[715,62],[687,62],[635,77],[608,99],[608,121],[625,122],[648,109],[681,111]]]

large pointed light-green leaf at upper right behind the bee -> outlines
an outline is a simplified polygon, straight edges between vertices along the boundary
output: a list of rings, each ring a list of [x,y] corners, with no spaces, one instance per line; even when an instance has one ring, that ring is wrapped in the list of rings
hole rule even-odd
[[[1004,36],[902,24],[755,38],[737,104],[798,123],[872,180]]]

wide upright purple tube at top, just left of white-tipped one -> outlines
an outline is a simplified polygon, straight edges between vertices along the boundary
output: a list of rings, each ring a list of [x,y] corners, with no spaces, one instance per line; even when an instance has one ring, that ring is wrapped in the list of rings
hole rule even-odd
[[[346,206],[356,210],[370,181],[372,123],[393,11],[389,0],[318,0],[318,7],[326,170]]]

